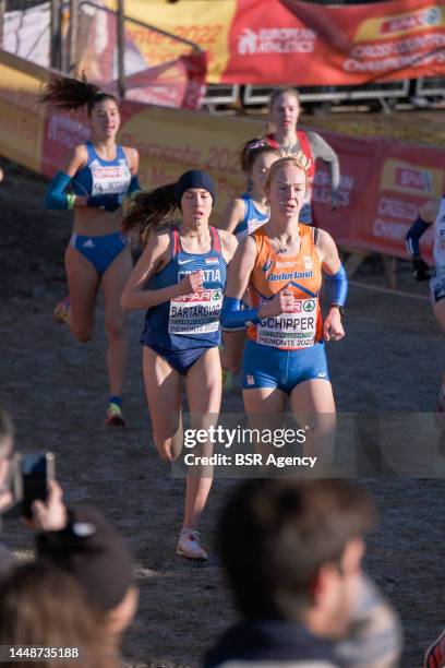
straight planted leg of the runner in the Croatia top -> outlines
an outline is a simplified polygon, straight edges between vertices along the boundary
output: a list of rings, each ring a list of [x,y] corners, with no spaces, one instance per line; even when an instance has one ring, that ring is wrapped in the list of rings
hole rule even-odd
[[[218,348],[209,348],[193,365],[185,377],[187,394],[193,429],[208,429],[218,419],[221,404],[221,366]],[[211,443],[204,443],[204,455],[212,454]],[[212,469],[195,469],[187,478],[183,527],[195,529],[212,487]]]

